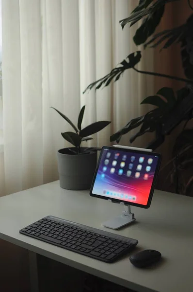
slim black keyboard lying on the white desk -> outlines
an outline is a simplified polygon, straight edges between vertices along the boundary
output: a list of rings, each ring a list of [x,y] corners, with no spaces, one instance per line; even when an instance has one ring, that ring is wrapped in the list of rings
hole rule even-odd
[[[130,252],[138,240],[48,216],[21,229],[21,234],[110,263]]]

